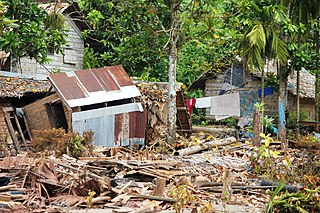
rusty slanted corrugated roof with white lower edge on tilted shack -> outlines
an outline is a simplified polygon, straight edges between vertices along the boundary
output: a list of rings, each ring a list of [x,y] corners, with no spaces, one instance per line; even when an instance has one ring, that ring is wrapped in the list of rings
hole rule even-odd
[[[49,80],[70,107],[141,96],[121,65],[50,74]]]

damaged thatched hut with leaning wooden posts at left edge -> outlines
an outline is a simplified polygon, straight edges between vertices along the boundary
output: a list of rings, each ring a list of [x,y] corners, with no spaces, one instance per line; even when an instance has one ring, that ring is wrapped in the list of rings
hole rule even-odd
[[[45,78],[0,71],[1,156],[26,147],[32,133],[22,107],[44,98],[49,88],[50,83]]]

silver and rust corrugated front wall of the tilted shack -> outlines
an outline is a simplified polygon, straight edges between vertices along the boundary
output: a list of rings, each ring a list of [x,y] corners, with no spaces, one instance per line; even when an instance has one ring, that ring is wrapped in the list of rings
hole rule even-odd
[[[98,146],[144,144],[146,113],[141,103],[124,104],[72,113],[73,131],[94,132]]]

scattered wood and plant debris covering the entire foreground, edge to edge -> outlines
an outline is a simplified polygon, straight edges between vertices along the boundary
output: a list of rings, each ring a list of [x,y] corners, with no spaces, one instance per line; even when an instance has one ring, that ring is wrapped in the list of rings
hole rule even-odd
[[[319,205],[318,200],[302,196],[305,190],[319,194],[319,152],[301,147],[283,152],[277,141],[263,136],[259,151],[250,141],[197,132],[187,139],[178,137],[173,145],[154,143],[140,150],[94,147],[77,158],[55,148],[39,151],[40,140],[30,146],[37,154],[25,151],[0,160],[1,210],[264,212],[267,205],[285,209],[281,204],[289,202],[288,193],[304,202],[290,208],[315,210],[310,205]],[[300,142],[306,141],[316,144],[311,136]],[[266,159],[272,163],[261,163]],[[286,183],[277,192],[284,178]]]

